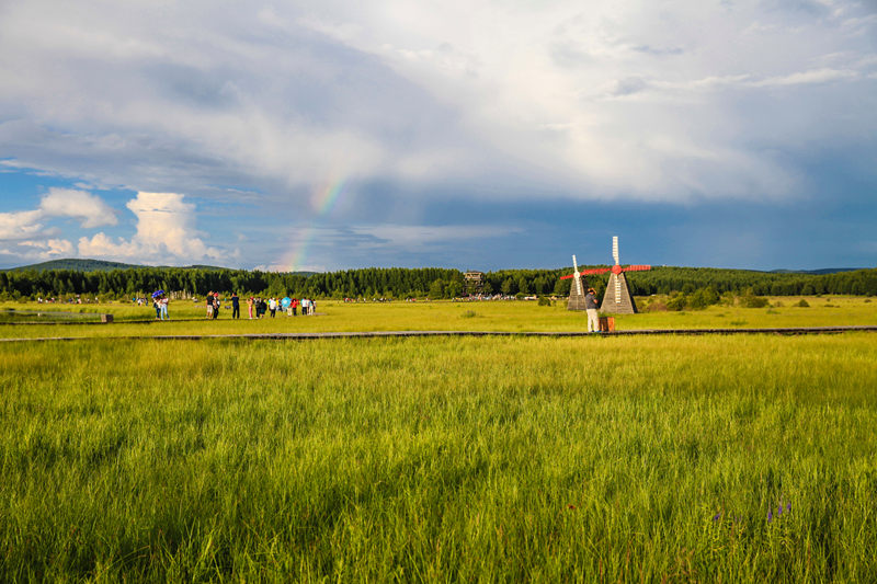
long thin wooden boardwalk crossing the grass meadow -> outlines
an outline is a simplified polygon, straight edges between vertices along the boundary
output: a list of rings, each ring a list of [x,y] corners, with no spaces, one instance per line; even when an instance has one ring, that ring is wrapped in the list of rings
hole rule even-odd
[[[38,336],[33,339],[0,339],[1,343],[32,343],[46,341],[209,341],[230,339],[241,341],[318,341],[321,339],[395,339],[423,336],[542,336],[565,337],[585,336],[611,339],[615,336],[643,335],[708,335],[708,334],[840,334],[847,332],[877,332],[877,327],[788,327],[783,329],[640,329],[588,333],[583,331],[557,332],[506,332],[506,331],[369,331],[369,332],[322,332],[322,333],[262,333],[262,334],[167,334],[167,335],[119,335],[119,336]]]

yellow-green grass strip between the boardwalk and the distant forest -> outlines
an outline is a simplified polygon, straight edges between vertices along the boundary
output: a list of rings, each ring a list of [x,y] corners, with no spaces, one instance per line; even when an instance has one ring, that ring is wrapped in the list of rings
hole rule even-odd
[[[800,297],[771,298],[767,308],[740,308],[714,306],[706,310],[688,312],[641,312],[616,317],[618,330],[636,329],[733,329],[828,327],[842,324],[877,325],[877,301],[863,297],[806,298],[808,308],[793,306]],[[775,306],[782,304],[782,307]],[[0,313],[8,309],[36,310],[39,305],[0,304]],[[45,305],[43,305],[45,308]],[[62,307],[53,308],[53,310]],[[113,313],[116,322],[110,327],[94,324],[29,324],[2,325],[0,337],[15,336],[117,336],[160,334],[236,334],[270,332],[349,332],[349,331],[583,331],[586,329],[582,312],[566,309],[565,301],[555,306],[537,306],[533,301],[499,302],[391,302],[344,304],[321,301],[315,318],[234,321],[230,310],[224,309],[216,321],[206,321],[201,305],[180,301],[171,305],[171,320],[155,321],[155,310],[130,304],[67,307],[69,310],[88,310]],[[146,323],[125,322],[133,319]],[[150,320],[151,319],[151,320]]]

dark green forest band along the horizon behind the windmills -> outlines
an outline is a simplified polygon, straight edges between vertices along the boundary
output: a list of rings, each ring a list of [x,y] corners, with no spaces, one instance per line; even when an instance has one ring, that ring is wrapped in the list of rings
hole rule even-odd
[[[594,266],[589,266],[594,267]],[[502,270],[485,275],[483,294],[567,296],[572,268]],[[608,274],[589,276],[588,285],[602,295]],[[877,295],[877,268],[806,274],[708,267],[654,267],[627,276],[631,293],[691,294],[710,288],[718,294],[798,296],[817,294]],[[147,296],[153,290],[203,296],[207,291],[242,295],[308,296],[314,298],[456,298],[467,293],[463,272],[435,267],[368,267],[343,272],[291,274],[198,267],[137,267],[83,272],[20,270],[0,272],[0,299],[65,297],[109,298]]]

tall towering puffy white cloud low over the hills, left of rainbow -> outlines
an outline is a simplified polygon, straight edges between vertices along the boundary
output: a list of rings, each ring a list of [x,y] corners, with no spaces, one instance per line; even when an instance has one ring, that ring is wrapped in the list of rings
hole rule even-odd
[[[198,237],[195,206],[183,202],[181,194],[140,192],[126,206],[137,217],[134,237],[115,241],[103,232],[82,237],[78,245],[80,256],[168,264],[229,256],[229,252],[208,247]]]

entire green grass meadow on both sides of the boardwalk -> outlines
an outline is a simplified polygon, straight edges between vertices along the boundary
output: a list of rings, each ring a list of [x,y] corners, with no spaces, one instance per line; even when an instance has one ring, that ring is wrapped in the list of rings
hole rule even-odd
[[[793,309],[731,310],[619,324]],[[0,329],[583,320],[319,311]],[[875,365],[874,333],[0,343],[0,581],[874,582]]]

